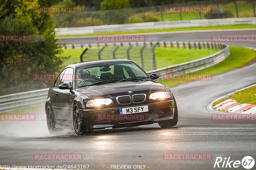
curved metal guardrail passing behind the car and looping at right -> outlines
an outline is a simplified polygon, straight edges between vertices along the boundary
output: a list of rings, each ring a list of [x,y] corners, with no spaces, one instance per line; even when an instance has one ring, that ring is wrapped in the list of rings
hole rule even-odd
[[[152,43],[151,43],[152,44]],[[227,44],[212,43],[212,42],[158,42],[159,46],[171,46],[177,48],[215,48],[221,49],[219,52],[209,55],[207,57],[188,61],[173,66],[159,68],[148,71],[147,74],[157,73],[160,76],[164,73],[189,73],[213,66],[222,60],[225,60],[230,52]],[[0,112],[6,112],[36,103],[44,103],[47,100],[48,88],[33,90],[22,93],[15,93],[11,95],[0,96]]]

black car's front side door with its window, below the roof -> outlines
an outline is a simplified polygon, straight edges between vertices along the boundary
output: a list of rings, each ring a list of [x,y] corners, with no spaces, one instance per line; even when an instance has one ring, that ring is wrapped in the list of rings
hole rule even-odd
[[[73,68],[66,68],[63,74],[61,84],[67,83],[69,88],[72,88]],[[62,122],[72,122],[72,110],[74,95],[71,94],[71,89],[57,89],[56,107],[59,120]]]

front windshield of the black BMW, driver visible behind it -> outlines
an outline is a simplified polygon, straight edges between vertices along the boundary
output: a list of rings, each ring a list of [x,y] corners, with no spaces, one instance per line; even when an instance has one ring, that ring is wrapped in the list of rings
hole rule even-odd
[[[133,62],[115,62],[78,67],[76,68],[76,76],[76,88],[83,88],[125,79],[128,81],[130,78],[132,78],[131,81],[147,80],[145,78],[148,77],[148,74]]]

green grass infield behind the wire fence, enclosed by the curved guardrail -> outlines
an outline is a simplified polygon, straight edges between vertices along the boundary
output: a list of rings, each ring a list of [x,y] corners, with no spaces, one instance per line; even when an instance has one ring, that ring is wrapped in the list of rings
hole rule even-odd
[[[116,51],[116,59],[127,59],[126,50],[128,47],[120,46]],[[100,59],[113,59],[112,51],[115,49],[115,46],[107,46],[102,51]],[[137,63],[140,67],[141,58],[140,58],[140,49],[141,47],[134,46],[130,50],[130,60]],[[96,48],[89,48],[87,52],[84,54],[84,61],[92,61],[98,60],[98,51],[100,50],[99,47]],[[70,58],[66,60],[64,65],[69,65],[73,63],[80,62],[80,54],[84,51],[84,49],[64,49],[63,54],[64,56],[69,56]],[[180,64],[183,62],[196,60],[213,53],[216,53],[218,50],[215,49],[183,49],[183,48],[170,48],[170,47],[156,47],[155,49],[155,56],[156,56],[156,67],[162,68],[167,67],[175,64]],[[151,47],[146,47],[143,50],[143,61],[144,61],[144,70],[149,71],[151,70],[151,62],[152,62],[152,53]]]

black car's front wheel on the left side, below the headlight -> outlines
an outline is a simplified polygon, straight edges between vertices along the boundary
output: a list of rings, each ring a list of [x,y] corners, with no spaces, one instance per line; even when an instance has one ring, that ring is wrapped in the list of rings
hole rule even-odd
[[[81,111],[79,110],[79,107],[77,106],[77,104],[74,105],[74,109],[73,109],[73,125],[74,125],[74,130],[76,132],[76,135],[78,135],[78,136],[93,133],[93,129],[88,130],[86,128],[84,118],[83,118]]]

